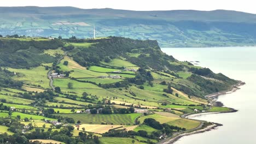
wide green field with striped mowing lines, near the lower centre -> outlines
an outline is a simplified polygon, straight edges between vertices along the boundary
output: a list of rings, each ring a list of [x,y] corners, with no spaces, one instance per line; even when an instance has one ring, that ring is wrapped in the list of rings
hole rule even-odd
[[[140,116],[140,113],[130,113],[130,114],[112,114],[112,115],[101,115],[101,114],[87,114],[87,113],[75,113],[75,114],[55,114],[62,117],[72,117],[75,121],[81,121],[82,124],[101,124],[102,122],[108,124],[133,124],[135,119]]]

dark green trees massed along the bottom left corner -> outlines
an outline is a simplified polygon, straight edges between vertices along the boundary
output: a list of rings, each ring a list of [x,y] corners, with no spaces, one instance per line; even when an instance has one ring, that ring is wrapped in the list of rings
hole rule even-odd
[[[63,127],[59,131],[49,128],[48,130],[36,128],[30,133],[21,133],[20,129],[24,128],[23,124],[17,122],[12,122],[8,125],[10,131],[14,132],[14,135],[7,135],[7,133],[0,134],[0,141],[2,143],[40,143],[40,142],[30,142],[31,139],[51,139],[56,141],[61,141],[65,143],[75,144],[75,143],[100,143],[97,136],[92,136],[92,133],[86,134],[82,131],[79,132],[79,136],[73,136],[74,127],[68,125]],[[31,125],[32,127],[32,125]]]

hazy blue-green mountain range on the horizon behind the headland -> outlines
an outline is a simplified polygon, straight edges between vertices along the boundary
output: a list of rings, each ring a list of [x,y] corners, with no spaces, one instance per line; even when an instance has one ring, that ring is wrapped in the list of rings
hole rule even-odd
[[[161,47],[256,44],[256,15],[239,11],[131,11],[73,7],[0,7],[0,34],[63,38],[156,39]]]

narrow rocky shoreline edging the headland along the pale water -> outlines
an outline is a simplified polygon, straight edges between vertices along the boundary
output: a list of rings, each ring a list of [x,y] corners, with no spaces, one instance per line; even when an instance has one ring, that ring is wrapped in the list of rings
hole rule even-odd
[[[225,90],[225,91],[220,91],[220,92],[217,92],[217,93],[212,93],[212,94],[208,94],[205,96],[206,99],[208,99],[210,101],[210,104],[212,106],[223,106],[222,102],[220,101],[216,101],[216,98],[218,98],[220,95],[224,95],[224,94],[230,94],[230,93],[234,93],[236,92],[238,89],[240,89],[239,87],[240,86],[243,86],[245,85],[246,83],[245,82],[242,82],[242,81],[238,81],[238,83],[236,83],[235,85],[232,85],[229,89]],[[237,112],[238,110],[235,110],[233,108],[230,108],[231,111],[226,111],[226,112],[202,112],[202,113],[187,113],[185,115],[182,115],[181,117],[182,118],[187,118],[187,119],[192,119],[192,118],[189,118],[189,117],[193,117],[193,116],[200,116],[200,115],[210,115],[210,114],[214,114],[214,113],[231,113],[231,112]],[[197,119],[193,119],[193,120],[197,120]],[[199,121],[199,120],[197,120]],[[201,121],[201,123],[203,123],[203,121]],[[184,132],[184,133],[180,133],[180,134],[177,134],[176,136],[174,137],[169,137],[169,139],[165,139],[165,140],[162,140],[158,143],[161,143],[161,144],[171,144],[171,143],[174,143],[176,142],[177,140],[181,139],[181,137],[183,136],[188,136],[188,135],[193,135],[193,134],[198,134],[198,133],[204,133],[206,131],[210,131],[212,129],[216,129],[217,127],[219,126],[222,126],[222,124],[219,124],[219,123],[213,123],[211,125],[208,125],[206,128],[195,128],[195,129],[192,129],[191,132]],[[200,126],[199,126],[200,127]],[[188,130],[190,131],[190,130]],[[175,134],[174,134],[175,135]]]

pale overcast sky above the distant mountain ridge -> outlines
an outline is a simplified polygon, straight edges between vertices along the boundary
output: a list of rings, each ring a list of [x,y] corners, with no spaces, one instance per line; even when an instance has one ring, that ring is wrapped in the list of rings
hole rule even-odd
[[[83,9],[113,8],[126,10],[236,10],[256,14],[254,0],[4,0],[1,7],[71,6]]]

